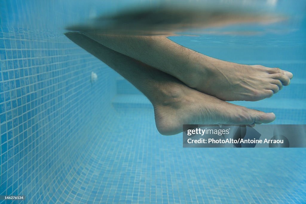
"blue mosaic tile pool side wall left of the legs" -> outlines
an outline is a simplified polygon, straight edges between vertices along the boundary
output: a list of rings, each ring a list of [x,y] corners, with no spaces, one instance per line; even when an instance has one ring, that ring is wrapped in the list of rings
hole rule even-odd
[[[65,36],[0,29],[0,195],[39,201],[76,162],[96,109],[109,112],[114,72]]]

